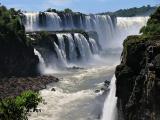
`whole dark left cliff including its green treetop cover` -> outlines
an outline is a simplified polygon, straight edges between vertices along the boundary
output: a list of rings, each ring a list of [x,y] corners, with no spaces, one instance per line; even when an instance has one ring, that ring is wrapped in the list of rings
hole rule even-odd
[[[19,14],[0,6],[0,77],[37,74],[39,60],[27,41]]]

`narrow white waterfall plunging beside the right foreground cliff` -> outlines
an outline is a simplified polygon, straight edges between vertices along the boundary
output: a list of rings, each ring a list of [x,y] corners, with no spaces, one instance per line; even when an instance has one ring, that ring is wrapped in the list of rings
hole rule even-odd
[[[117,115],[116,78],[113,76],[110,83],[110,91],[104,102],[101,120],[116,120]]]

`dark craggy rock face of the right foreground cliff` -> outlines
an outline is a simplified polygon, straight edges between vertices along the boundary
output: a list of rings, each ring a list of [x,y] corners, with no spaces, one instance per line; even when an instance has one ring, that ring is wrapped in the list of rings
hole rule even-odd
[[[119,120],[159,120],[160,36],[130,36],[123,45],[116,68]]]

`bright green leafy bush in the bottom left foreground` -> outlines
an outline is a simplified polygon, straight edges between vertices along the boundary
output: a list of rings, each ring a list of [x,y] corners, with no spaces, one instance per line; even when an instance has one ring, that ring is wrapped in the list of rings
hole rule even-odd
[[[30,110],[37,108],[42,98],[33,91],[23,92],[16,98],[6,98],[0,101],[0,120],[27,120]]]

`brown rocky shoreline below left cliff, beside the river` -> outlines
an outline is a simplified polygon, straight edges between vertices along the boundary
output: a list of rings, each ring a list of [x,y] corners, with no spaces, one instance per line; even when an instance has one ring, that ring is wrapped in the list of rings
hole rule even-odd
[[[46,88],[47,84],[58,82],[54,76],[34,76],[34,77],[5,77],[0,79],[0,99],[15,97],[23,91],[39,91]]]

